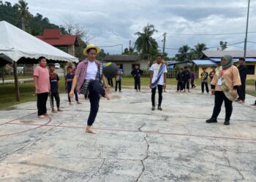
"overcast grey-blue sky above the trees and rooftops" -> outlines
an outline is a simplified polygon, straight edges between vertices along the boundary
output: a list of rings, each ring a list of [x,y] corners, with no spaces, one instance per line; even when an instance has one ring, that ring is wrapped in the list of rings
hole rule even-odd
[[[219,41],[228,44],[244,41],[245,34],[224,36],[185,36],[175,33],[238,33],[246,30],[247,0],[26,0],[29,11],[48,17],[51,23],[63,20],[79,23],[94,36],[91,43],[98,46],[134,44],[137,31],[147,24],[157,29],[154,38],[167,34],[166,47],[178,49],[183,44],[194,47],[197,42],[217,47]],[[18,0],[10,0],[12,4]],[[256,31],[256,1],[251,0],[249,31]],[[173,34],[171,34],[173,33]],[[256,42],[256,33],[249,33],[248,41]],[[157,39],[162,47],[162,37]],[[244,43],[234,44],[229,50],[242,50]],[[248,43],[248,50],[256,50]],[[110,54],[120,54],[121,47],[104,48]],[[217,50],[213,48],[211,50]],[[177,50],[166,50],[174,56]]]

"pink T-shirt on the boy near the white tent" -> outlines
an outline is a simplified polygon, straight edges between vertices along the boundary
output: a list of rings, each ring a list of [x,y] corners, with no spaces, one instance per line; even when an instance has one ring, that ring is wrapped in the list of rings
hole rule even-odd
[[[36,90],[36,93],[45,93],[50,90],[50,79],[49,79],[49,71],[48,68],[42,68],[41,66],[37,66],[34,68],[33,76],[37,76],[37,83],[39,87],[39,91]]]

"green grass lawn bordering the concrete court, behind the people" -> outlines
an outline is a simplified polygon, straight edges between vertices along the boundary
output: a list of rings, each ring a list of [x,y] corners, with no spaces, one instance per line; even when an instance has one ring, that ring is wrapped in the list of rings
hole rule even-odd
[[[31,76],[30,76],[31,77]],[[113,79],[114,81],[114,79]],[[141,85],[148,86],[149,78],[141,78]],[[167,79],[167,84],[176,85],[176,79]],[[65,92],[64,89],[64,78],[60,78],[59,84],[61,86],[61,92]],[[195,84],[200,85],[200,79],[195,80]],[[248,80],[246,84],[255,85],[255,80]],[[134,79],[132,77],[124,77],[122,80],[122,85],[124,86],[133,86]],[[29,102],[37,100],[37,95],[34,93],[34,82],[26,82],[24,84],[20,84],[20,102]],[[247,94],[253,95],[256,97],[255,91],[246,91]],[[7,108],[9,106],[13,106],[18,104],[15,101],[15,85],[14,84],[4,84],[0,85],[0,109]]]

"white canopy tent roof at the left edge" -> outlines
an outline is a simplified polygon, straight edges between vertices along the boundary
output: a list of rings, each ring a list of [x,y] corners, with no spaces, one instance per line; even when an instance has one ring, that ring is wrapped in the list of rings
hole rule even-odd
[[[0,22],[0,58],[18,61],[20,58],[37,59],[44,56],[48,60],[78,62],[78,58],[45,43],[20,28]]]

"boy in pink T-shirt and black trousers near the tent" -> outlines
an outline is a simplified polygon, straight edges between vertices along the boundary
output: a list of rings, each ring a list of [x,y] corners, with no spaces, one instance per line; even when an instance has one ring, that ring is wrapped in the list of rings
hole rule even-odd
[[[38,58],[39,66],[34,68],[34,84],[37,94],[37,110],[40,119],[48,116],[46,103],[50,92],[49,71],[46,68],[47,61],[45,57]]]

